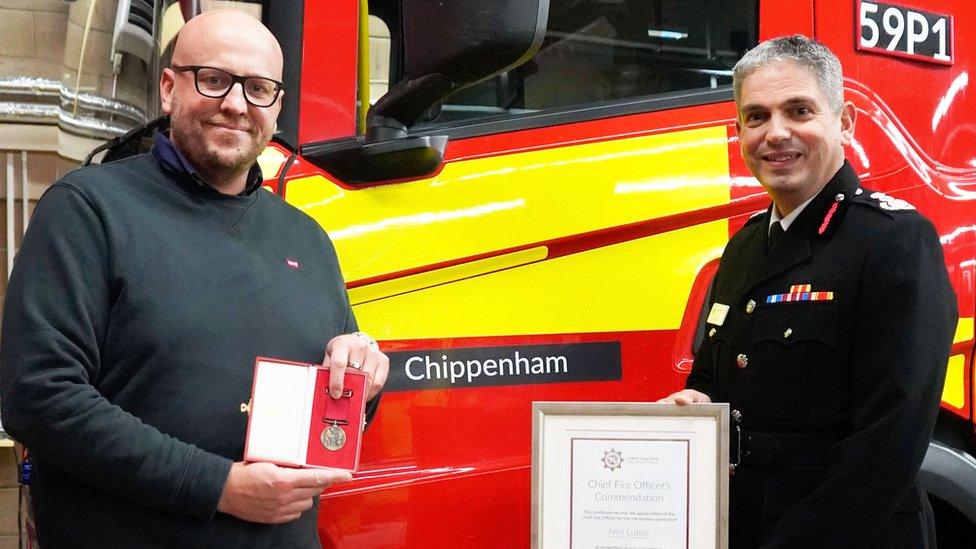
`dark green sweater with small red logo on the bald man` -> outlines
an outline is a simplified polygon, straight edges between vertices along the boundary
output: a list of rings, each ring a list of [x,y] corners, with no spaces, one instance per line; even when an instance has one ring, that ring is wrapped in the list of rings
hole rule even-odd
[[[314,509],[266,526],[216,507],[255,357],[319,362],[355,329],[332,243],[279,197],[221,195],[153,154],[65,176],[24,238],[0,340],[41,546],[317,546]]]

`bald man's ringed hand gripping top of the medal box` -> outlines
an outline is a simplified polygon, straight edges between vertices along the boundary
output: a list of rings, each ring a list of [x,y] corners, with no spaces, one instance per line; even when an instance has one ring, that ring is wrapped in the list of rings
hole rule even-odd
[[[332,398],[342,394],[342,379],[346,368],[362,370],[369,377],[369,400],[379,394],[390,372],[390,359],[380,351],[373,338],[362,332],[332,338],[325,347],[323,366],[329,367],[329,393]]]

